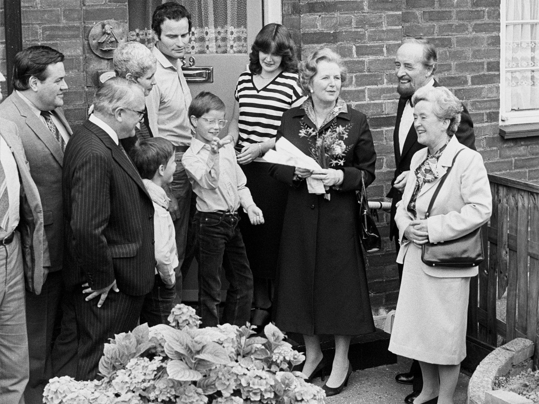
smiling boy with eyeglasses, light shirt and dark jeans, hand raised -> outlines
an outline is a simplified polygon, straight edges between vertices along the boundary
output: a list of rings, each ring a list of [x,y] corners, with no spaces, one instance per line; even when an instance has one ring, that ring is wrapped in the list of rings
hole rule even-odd
[[[219,324],[221,266],[230,286],[223,323],[238,326],[249,320],[253,276],[238,227],[238,208],[243,207],[253,225],[264,223],[245,186],[246,178],[236,162],[230,140],[218,135],[226,125],[225,105],[218,96],[202,92],[192,100],[189,119],[195,128],[182,164],[197,194],[193,227],[198,261],[198,315],[202,327]]]

